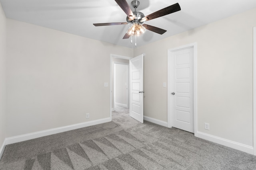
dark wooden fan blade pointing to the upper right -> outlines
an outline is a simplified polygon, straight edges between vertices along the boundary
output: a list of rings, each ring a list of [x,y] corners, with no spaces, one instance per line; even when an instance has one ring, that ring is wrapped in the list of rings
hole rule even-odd
[[[180,11],[180,5],[178,3],[168,6],[166,8],[163,8],[162,10],[156,11],[152,14],[149,14],[148,16],[145,16],[144,18],[142,18],[142,20],[140,22],[153,20],[155,18],[162,17],[162,16],[165,16],[168,14],[172,14],[177,11]]]

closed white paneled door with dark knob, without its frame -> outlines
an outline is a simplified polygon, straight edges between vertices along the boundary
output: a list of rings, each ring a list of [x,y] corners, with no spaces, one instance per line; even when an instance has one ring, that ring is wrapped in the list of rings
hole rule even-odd
[[[194,48],[172,52],[172,127],[194,133]]]

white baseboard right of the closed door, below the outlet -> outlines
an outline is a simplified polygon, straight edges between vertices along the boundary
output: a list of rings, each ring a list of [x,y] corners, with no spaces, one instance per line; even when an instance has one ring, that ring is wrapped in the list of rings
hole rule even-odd
[[[207,141],[218,143],[220,145],[224,145],[226,147],[237,149],[237,150],[249,153],[249,154],[253,154],[253,151],[254,151],[254,148],[250,147],[248,145],[244,145],[244,144],[241,144],[241,143],[237,143],[237,142],[230,141],[230,140],[227,140],[227,139],[223,139],[223,138],[220,138],[220,137],[216,137],[216,136],[213,136],[213,135],[208,135],[208,134],[202,133],[202,132],[197,132],[197,137],[205,139]]]

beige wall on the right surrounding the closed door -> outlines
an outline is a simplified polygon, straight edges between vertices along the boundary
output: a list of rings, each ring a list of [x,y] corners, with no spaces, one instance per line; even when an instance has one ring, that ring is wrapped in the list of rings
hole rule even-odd
[[[252,146],[255,16],[253,9],[134,49],[146,53],[144,115],[167,121],[167,50],[196,42],[198,131]]]

